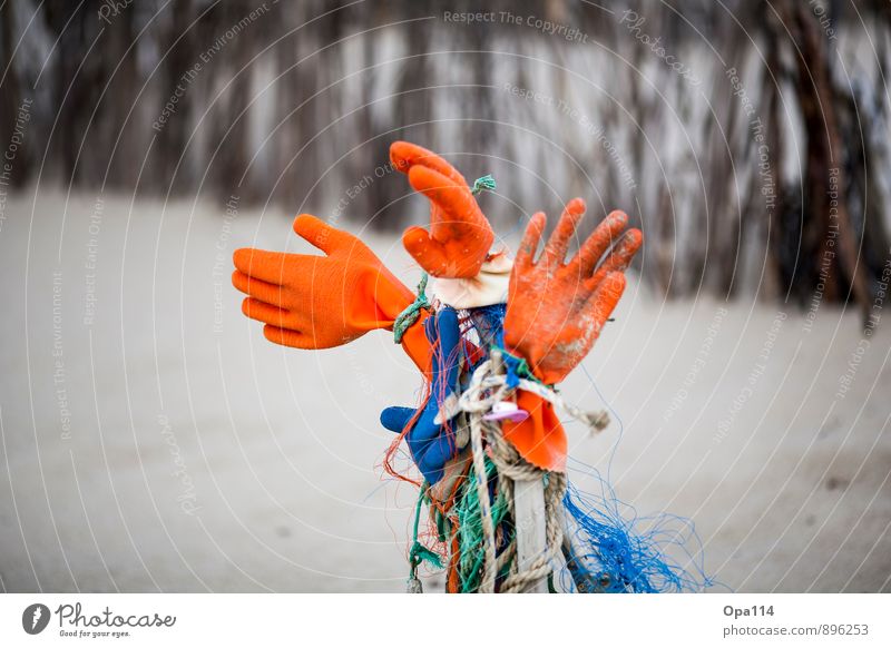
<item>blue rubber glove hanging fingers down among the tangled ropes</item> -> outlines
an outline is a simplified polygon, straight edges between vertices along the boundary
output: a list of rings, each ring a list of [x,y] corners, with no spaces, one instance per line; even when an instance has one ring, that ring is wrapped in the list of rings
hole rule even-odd
[[[461,333],[458,327],[458,313],[451,306],[428,317],[424,326],[427,338],[433,345],[430,397],[405,436],[414,463],[432,485],[442,479],[443,467],[456,455],[454,430],[448,421],[438,424],[434,419],[442,402],[450,393],[457,392]],[[381,424],[392,432],[400,433],[415,412],[417,410],[412,408],[386,408],[381,412]]]

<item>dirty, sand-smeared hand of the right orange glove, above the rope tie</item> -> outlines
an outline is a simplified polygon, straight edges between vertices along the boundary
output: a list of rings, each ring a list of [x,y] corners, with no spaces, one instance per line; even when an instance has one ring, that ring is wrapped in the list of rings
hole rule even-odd
[[[526,359],[542,382],[555,384],[578,365],[600,334],[625,291],[628,267],[643,235],[629,229],[599,267],[597,263],[628,224],[613,212],[564,263],[569,239],[585,213],[581,198],[571,200],[545,252],[533,261],[545,230],[545,214],[532,216],[513,262],[505,316],[508,351]]]

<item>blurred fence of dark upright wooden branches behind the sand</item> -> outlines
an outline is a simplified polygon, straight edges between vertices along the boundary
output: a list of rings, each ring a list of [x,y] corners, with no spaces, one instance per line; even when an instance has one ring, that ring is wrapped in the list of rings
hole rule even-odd
[[[891,2],[447,11],[480,6],[7,0],[0,146],[25,137],[4,190],[236,195],[395,229],[422,218],[382,167],[404,138],[495,175],[502,229],[576,195],[625,209],[660,294],[869,308],[891,254]]]

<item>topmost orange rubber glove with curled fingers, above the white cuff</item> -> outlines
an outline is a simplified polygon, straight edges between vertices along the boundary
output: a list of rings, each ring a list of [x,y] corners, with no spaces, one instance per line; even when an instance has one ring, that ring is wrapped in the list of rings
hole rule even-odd
[[[405,249],[434,277],[477,276],[495,233],[464,177],[437,154],[408,141],[390,146],[390,160],[431,203],[430,232],[417,226],[405,229]]]

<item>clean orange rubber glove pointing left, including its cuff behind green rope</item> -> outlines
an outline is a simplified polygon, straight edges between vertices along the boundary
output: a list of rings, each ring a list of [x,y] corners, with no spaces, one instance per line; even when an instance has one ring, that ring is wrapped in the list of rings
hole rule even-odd
[[[414,300],[359,238],[302,214],[294,232],[326,256],[242,248],[233,255],[232,284],[249,295],[242,312],[264,322],[271,342],[297,348],[330,348],[375,328],[393,328]],[[431,350],[419,317],[402,345],[421,371]],[[420,326],[419,326],[420,324]]]

